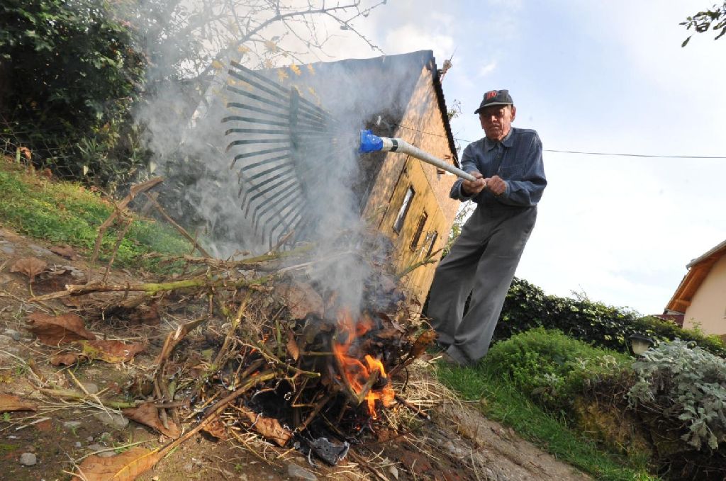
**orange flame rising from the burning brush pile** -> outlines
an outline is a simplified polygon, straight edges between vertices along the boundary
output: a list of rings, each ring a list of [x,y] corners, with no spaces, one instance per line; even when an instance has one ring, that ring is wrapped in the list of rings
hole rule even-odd
[[[354,321],[351,313],[346,310],[341,310],[338,313],[338,332],[345,334],[346,340],[333,342],[333,353],[335,358],[338,359],[338,363],[343,369],[343,375],[348,380],[348,384],[355,390],[356,394],[362,392],[364,385],[370,379],[373,372],[378,371],[380,379],[386,379],[386,369],[383,367],[383,363],[380,360],[374,358],[372,355],[367,354],[364,356],[365,364],[359,361],[358,358],[351,355],[351,348],[354,348],[354,341],[369,332],[373,327],[372,319],[364,315],[357,321]],[[368,405],[368,413],[373,419],[377,419],[378,416],[375,412],[375,401],[380,400],[383,406],[387,408],[393,404],[396,393],[388,385],[384,386],[380,390],[370,390],[365,399]]]

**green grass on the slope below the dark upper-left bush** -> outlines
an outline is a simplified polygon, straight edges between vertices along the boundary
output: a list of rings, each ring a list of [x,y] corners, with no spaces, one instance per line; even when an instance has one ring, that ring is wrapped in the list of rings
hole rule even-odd
[[[80,184],[48,181],[0,160],[2,226],[36,239],[70,244],[90,255],[99,226],[112,212],[110,202]],[[110,257],[117,236],[117,226],[106,231],[99,260]],[[154,268],[155,261],[142,261],[142,255],[149,252],[179,255],[189,253],[191,248],[171,226],[136,218],[118,248],[115,266]]]

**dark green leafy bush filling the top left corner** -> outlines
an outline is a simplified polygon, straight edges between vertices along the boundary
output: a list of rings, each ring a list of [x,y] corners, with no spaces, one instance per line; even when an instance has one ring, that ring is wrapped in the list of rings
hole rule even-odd
[[[0,5],[3,135],[36,166],[107,185],[142,163],[131,127],[145,60],[134,32],[99,0]],[[15,152],[9,152],[15,154]]]

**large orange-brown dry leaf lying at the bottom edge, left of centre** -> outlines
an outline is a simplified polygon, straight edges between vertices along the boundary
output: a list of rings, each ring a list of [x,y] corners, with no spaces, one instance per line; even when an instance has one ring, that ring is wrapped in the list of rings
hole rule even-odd
[[[133,481],[161,459],[158,449],[131,448],[111,458],[89,456],[78,466],[72,481]]]

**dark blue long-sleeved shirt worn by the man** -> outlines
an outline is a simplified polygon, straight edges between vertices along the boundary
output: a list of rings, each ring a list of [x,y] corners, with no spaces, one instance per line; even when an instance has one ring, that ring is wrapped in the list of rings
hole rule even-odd
[[[531,207],[542,198],[547,178],[542,163],[542,141],[536,131],[512,127],[501,142],[486,137],[472,142],[464,149],[461,168],[477,171],[484,177],[499,176],[507,183],[501,195],[484,189],[476,196],[465,196],[461,190],[462,179],[454,182],[450,197],[463,201],[473,200],[479,205],[515,205]]]

